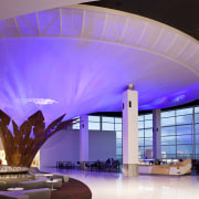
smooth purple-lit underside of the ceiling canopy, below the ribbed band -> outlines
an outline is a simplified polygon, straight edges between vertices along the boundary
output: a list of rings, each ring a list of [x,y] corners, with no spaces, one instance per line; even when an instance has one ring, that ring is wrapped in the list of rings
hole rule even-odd
[[[136,49],[92,41],[85,46],[72,39],[1,39],[0,54],[0,104],[11,117],[27,118],[38,106],[46,121],[63,113],[71,118],[121,111],[123,90],[132,82],[139,109],[174,106],[180,91],[186,97],[179,103],[199,97],[191,72]]]

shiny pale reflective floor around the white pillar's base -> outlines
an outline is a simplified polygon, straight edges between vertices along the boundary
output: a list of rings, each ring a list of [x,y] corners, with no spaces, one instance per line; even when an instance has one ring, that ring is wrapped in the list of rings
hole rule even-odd
[[[86,184],[93,199],[199,199],[199,176],[124,177],[122,174],[41,168],[64,172]]]

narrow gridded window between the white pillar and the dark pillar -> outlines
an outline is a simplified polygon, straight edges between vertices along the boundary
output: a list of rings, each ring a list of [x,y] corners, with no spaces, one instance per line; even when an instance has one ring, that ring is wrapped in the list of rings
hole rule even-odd
[[[139,159],[153,158],[153,114],[138,116]]]

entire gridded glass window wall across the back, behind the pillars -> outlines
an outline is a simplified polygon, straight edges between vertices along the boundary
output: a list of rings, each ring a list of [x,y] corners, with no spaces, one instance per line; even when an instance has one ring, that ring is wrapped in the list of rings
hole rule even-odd
[[[161,112],[161,158],[199,159],[199,106]],[[80,122],[80,118],[78,118]],[[122,117],[88,116],[90,130],[116,133],[116,157],[123,160]],[[73,125],[80,129],[80,123]],[[138,116],[139,159],[153,158],[153,114]]]

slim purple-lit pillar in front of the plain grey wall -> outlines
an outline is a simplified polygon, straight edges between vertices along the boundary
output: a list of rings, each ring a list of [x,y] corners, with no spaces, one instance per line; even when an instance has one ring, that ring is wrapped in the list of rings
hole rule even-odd
[[[88,161],[88,116],[81,116],[80,122],[80,163],[84,169],[84,161]]]

